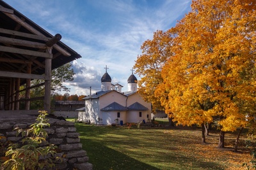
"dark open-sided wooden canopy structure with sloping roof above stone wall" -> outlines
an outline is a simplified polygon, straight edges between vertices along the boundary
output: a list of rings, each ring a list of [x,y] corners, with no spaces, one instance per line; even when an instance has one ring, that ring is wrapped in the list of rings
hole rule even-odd
[[[44,100],[44,109],[50,110],[51,70],[81,58],[77,52],[52,36],[12,6],[0,0],[0,110],[19,110],[25,101]],[[45,95],[31,99],[31,80],[44,80]],[[26,89],[20,90],[20,85]],[[37,85],[40,86],[40,85]],[[20,99],[20,92],[26,96]]]

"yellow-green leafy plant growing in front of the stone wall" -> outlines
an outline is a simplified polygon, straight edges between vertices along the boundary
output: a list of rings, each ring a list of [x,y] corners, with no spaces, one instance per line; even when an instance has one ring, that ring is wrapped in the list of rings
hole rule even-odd
[[[43,169],[44,167],[54,167],[54,153],[57,146],[48,145],[40,146],[42,143],[47,143],[48,136],[44,127],[49,127],[49,120],[46,117],[47,111],[38,111],[40,115],[36,118],[35,124],[30,125],[29,129],[13,129],[17,131],[17,136],[21,134],[22,146],[18,143],[11,143],[5,153],[6,160],[2,167],[4,169]],[[58,159],[58,158],[56,158]]]

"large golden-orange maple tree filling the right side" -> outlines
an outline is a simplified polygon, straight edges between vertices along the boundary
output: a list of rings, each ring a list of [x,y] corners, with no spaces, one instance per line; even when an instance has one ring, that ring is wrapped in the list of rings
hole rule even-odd
[[[221,148],[225,131],[255,113],[255,2],[197,0],[191,8],[172,29],[173,56],[155,94],[179,124],[215,121]]]

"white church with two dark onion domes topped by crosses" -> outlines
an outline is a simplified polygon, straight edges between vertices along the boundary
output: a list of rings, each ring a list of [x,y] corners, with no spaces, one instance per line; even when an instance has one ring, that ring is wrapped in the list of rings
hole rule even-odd
[[[78,121],[90,124],[127,124],[151,121],[151,104],[137,93],[137,78],[129,76],[128,91],[111,83],[107,72],[101,78],[101,90],[84,98],[85,107],[79,109]]]

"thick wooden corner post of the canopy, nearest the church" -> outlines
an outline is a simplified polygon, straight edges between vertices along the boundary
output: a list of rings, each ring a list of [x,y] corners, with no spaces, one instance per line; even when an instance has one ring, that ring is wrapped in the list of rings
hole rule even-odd
[[[46,50],[47,53],[52,53],[52,48]],[[51,71],[52,59],[45,58],[45,91],[44,91],[44,110],[51,113]]]

